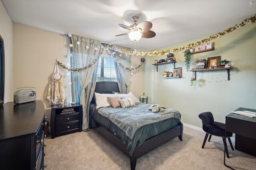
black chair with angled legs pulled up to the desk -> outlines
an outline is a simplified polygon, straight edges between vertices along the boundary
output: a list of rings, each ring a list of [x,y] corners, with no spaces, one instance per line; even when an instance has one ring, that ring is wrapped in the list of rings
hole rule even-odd
[[[229,158],[228,147],[227,147],[226,138],[225,138],[225,124],[214,121],[213,115],[209,111],[200,113],[199,118],[202,119],[203,130],[206,132],[202,148],[204,149],[204,145],[206,143],[206,140],[209,134],[210,134],[210,137],[208,142],[210,142],[212,135],[222,137],[224,147],[226,147],[226,154],[227,154],[227,157]],[[226,133],[226,137],[228,138],[230,147],[232,150],[234,150],[232,142],[230,140],[230,137],[232,137],[232,135],[233,133],[230,133],[230,132]]]

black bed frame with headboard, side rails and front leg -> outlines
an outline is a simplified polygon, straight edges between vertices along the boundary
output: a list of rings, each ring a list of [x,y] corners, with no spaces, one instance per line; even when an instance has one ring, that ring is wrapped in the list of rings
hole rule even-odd
[[[95,92],[103,94],[111,94],[112,91],[119,92],[117,82],[97,82],[95,87]],[[94,128],[98,133],[104,136],[108,141],[115,145],[119,150],[121,150],[126,156],[130,158],[131,170],[135,170],[137,158],[140,158],[144,154],[160,147],[164,143],[179,137],[182,141],[183,134],[183,124],[180,123],[178,126],[165,131],[164,133],[158,134],[150,139],[147,139],[140,145],[136,146],[132,156],[127,152],[126,145],[124,142],[118,138],[116,135],[102,127],[98,122],[90,119],[90,127]]]

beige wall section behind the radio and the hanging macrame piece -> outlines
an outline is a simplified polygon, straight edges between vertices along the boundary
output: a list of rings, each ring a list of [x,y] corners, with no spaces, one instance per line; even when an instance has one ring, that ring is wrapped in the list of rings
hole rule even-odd
[[[58,33],[14,23],[13,40],[14,88],[35,87],[36,99],[44,102],[46,116],[50,117],[46,92],[54,71],[55,59],[67,63],[69,39]],[[63,76],[64,91],[67,93],[67,71],[60,68],[60,73]]]

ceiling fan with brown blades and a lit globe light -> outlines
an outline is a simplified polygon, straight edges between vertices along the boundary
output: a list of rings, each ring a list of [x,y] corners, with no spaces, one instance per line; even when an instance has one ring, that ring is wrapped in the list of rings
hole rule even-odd
[[[139,19],[139,17],[137,17],[137,16],[132,17],[132,21],[134,21],[134,24],[130,25],[130,27],[119,23],[118,25],[120,27],[122,27],[124,29],[128,29],[130,31],[130,33],[119,34],[119,35],[116,35],[116,37],[128,34],[130,40],[136,42],[136,41],[140,40],[141,37],[142,38],[153,38],[154,36],[156,36],[156,33],[154,31],[150,31],[150,29],[152,28],[152,22],[144,21],[144,22],[137,24],[138,19]]]

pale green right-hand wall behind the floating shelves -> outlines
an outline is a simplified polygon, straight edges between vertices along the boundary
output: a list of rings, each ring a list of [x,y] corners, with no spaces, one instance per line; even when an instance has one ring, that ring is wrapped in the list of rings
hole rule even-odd
[[[209,35],[163,49],[178,48],[206,37]],[[186,71],[183,51],[174,53],[176,67],[182,67],[182,78],[164,79],[161,72],[172,71],[172,64],[160,65],[156,72],[152,63],[155,59],[165,59],[166,55],[148,57],[144,91],[151,104],[177,109],[184,123],[198,127],[202,127],[198,114],[204,111],[211,111],[216,121],[224,123],[225,116],[238,107],[256,109],[256,24],[246,25],[213,42],[214,51],[194,54],[194,60],[214,56],[231,60],[230,81],[227,81],[226,71],[198,72],[196,85],[190,86],[192,72]]]

